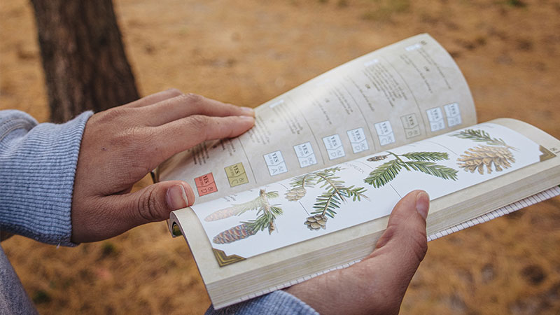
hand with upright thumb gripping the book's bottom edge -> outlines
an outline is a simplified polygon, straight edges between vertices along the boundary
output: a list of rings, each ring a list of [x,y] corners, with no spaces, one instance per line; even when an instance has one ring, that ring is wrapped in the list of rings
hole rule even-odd
[[[387,230],[370,255],[286,291],[321,314],[398,314],[402,297],[428,249],[429,204],[425,192],[409,193],[391,212]]]

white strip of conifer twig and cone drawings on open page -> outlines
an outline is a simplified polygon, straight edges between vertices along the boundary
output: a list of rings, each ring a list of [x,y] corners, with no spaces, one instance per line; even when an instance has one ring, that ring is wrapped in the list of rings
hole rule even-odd
[[[387,216],[540,161],[540,146],[485,123],[221,197],[192,209],[214,250],[239,259]]]

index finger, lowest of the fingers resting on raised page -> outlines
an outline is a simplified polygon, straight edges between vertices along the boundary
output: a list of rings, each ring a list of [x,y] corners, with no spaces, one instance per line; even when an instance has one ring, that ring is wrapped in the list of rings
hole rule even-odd
[[[153,150],[150,156],[153,167],[172,155],[193,148],[207,140],[237,137],[255,125],[250,116],[209,117],[193,115],[172,123],[155,127],[154,137],[147,147]]]

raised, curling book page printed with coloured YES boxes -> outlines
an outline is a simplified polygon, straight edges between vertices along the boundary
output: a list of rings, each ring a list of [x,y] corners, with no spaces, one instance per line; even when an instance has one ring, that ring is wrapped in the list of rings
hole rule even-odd
[[[253,129],[176,155],[159,179],[187,181],[206,202],[476,123],[461,71],[427,34],[323,73],[255,112]]]

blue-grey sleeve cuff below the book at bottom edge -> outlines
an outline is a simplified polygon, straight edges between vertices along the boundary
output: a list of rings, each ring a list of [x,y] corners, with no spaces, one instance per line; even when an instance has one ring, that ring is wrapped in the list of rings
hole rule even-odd
[[[212,305],[204,315],[260,315],[260,314],[290,314],[290,315],[318,315],[317,311],[302,302],[297,297],[284,290],[277,290],[267,295],[255,297],[252,300],[234,304],[223,309],[214,309]]]

